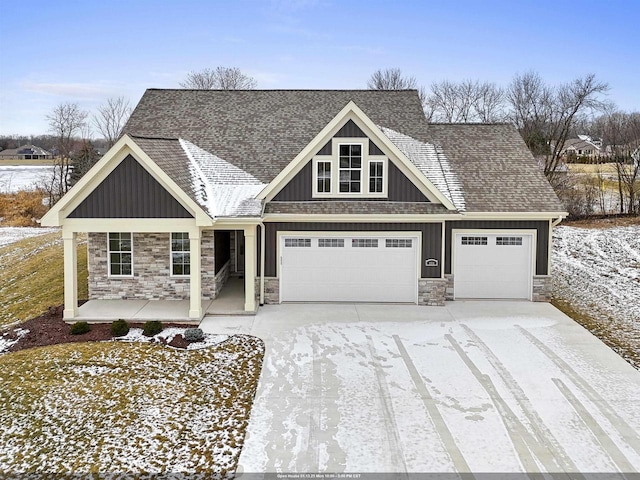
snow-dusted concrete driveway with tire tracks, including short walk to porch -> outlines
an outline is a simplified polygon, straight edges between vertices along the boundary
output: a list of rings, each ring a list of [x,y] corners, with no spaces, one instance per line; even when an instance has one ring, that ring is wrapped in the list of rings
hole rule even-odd
[[[637,472],[640,372],[549,304],[278,305],[238,473]]]

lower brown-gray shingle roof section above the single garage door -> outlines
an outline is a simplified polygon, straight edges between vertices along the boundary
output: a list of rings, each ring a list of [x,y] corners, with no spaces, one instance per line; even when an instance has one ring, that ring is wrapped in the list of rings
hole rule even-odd
[[[430,124],[462,183],[467,212],[562,212],[564,207],[509,124]]]

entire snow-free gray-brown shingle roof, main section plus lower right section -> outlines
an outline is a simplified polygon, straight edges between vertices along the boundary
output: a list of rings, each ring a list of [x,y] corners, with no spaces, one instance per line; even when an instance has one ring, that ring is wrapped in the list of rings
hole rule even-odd
[[[438,146],[460,184],[449,193],[460,195],[466,212],[564,210],[513,126],[428,125],[415,90],[151,89],[124,131],[197,199],[178,139],[268,183],[349,101],[376,125]]]

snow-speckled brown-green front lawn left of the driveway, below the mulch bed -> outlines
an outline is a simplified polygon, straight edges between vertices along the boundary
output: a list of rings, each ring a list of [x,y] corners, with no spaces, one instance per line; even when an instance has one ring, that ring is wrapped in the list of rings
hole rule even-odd
[[[237,335],[187,351],[104,342],[2,355],[0,471],[233,472],[263,348]]]

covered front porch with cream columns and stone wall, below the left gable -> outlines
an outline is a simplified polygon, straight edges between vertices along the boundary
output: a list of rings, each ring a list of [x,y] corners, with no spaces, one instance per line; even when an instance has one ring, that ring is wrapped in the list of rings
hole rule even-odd
[[[189,225],[185,220],[160,220],[160,219],[136,219],[135,228],[132,228],[133,222],[127,220],[110,220],[108,222],[93,221],[91,225],[88,225],[86,221],[81,222],[65,222],[63,224],[62,233],[64,239],[64,277],[65,277],[65,308],[64,319],[66,321],[93,321],[93,322],[105,322],[113,321],[117,319],[124,319],[132,322],[140,322],[147,320],[162,320],[162,321],[174,321],[185,323],[199,323],[205,315],[253,315],[257,309],[256,301],[256,225],[249,224],[234,224],[220,226],[219,229],[202,229],[194,227],[193,224]],[[70,228],[71,227],[71,228]],[[218,280],[218,277],[213,275],[213,266],[216,258],[215,243],[212,243],[212,232],[216,231],[229,231],[233,229],[236,232],[236,236],[242,239],[243,246],[243,258],[244,264],[242,276],[230,276],[226,282],[222,281],[223,285],[220,290],[215,290],[212,293],[211,282]],[[144,294],[140,295],[136,293],[136,297],[123,295],[122,298],[106,298],[92,295],[92,286],[96,282],[101,282],[104,289],[111,289],[112,285],[118,282],[124,284],[124,281],[116,280],[114,283],[113,277],[109,278],[106,272],[102,272],[102,275],[96,275],[95,269],[96,263],[92,264],[92,259],[96,257],[90,249],[89,255],[89,268],[94,268],[94,278],[98,280],[94,281],[94,284],[90,282],[89,288],[89,301],[83,305],[79,305],[78,302],[78,265],[77,265],[77,233],[78,232],[104,232],[109,231],[124,231],[133,232],[131,243],[134,245],[132,248],[133,256],[133,274],[125,279],[126,282],[137,282],[138,285],[145,285],[148,288],[147,278],[152,278],[158,284],[153,287],[154,290],[150,292],[150,295],[145,298]],[[165,232],[164,237],[168,239],[167,234],[175,231],[183,231],[188,235],[188,251],[190,257],[190,271],[186,276],[183,276],[182,290],[187,292],[186,298],[162,298],[158,299],[159,295],[166,294],[157,290],[157,288],[163,287],[162,278],[167,278],[169,275],[167,272],[163,272],[157,275],[147,275],[146,278],[138,278],[138,270],[136,269],[136,258],[141,258],[144,250],[140,248],[135,238],[147,238],[151,235],[153,240],[154,235],[157,236],[157,232]],[[204,242],[206,232],[208,233],[208,240]],[[104,236],[103,233],[103,236]],[[137,237],[140,236],[140,237]],[[162,237],[161,245],[168,243],[165,242],[165,238]],[[102,250],[106,247],[103,243],[106,243],[101,239],[99,244]],[[153,240],[156,241],[157,239]],[[203,249],[204,243],[206,248]],[[138,248],[136,248],[138,247]],[[164,245],[162,248],[168,248]],[[228,245],[224,247],[228,249]],[[153,245],[147,246],[146,251],[153,251],[157,254],[158,249]],[[101,254],[104,254],[102,252]],[[137,257],[136,257],[137,255]],[[151,258],[150,255],[147,255]],[[160,254],[162,264],[161,268],[167,271],[167,264],[169,263],[169,256],[164,253]],[[166,258],[165,258],[166,257]],[[206,268],[203,268],[206,259]],[[152,259],[155,264],[158,262]],[[227,260],[230,263],[231,260]],[[105,265],[103,259],[103,267]],[[216,267],[217,268],[217,267]],[[90,270],[91,277],[91,270]],[[160,281],[157,279],[160,278]],[[185,282],[186,281],[186,282]],[[108,283],[111,282],[111,283]],[[165,282],[166,283],[166,282]],[[155,285],[155,283],[153,283]],[[165,285],[166,288],[166,285]],[[114,290],[117,292],[117,290]],[[102,293],[102,292],[99,292]],[[110,291],[108,291],[110,294]],[[207,297],[207,295],[209,295]],[[213,297],[215,295],[215,297]],[[112,295],[113,297],[113,295]],[[133,298],[132,298],[133,297]],[[213,299],[212,299],[213,297]]]

